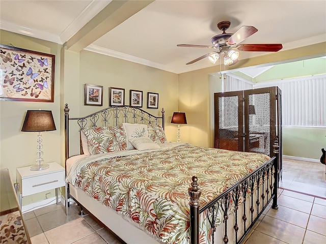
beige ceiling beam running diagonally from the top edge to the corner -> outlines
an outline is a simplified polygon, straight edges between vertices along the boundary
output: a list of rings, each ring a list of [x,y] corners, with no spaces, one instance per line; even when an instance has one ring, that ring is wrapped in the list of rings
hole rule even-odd
[[[154,2],[149,1],[121,1],[113,0],[92,18],[83,28],[73,35],[65,44],[65,48],[80,52],[94,41],[110,32],[113,28],[138,13]]]

